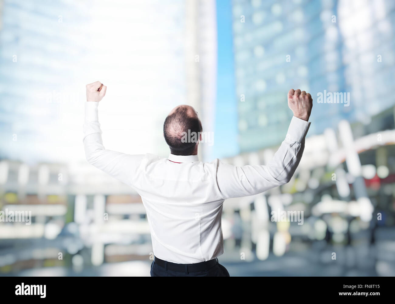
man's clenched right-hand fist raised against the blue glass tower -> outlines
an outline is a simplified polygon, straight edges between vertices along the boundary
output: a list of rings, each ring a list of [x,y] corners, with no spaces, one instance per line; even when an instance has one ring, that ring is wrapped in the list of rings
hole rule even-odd
[[[313,107],[313,99],[306,91],[290,89],[288,92],[288,106],[293,112],[293,116],[308,121],[311,108]]]

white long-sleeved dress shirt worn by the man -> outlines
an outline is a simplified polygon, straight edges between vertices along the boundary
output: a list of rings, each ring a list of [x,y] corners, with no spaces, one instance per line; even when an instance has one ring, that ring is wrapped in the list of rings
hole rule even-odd
[[[310,126],[292,117],[284,142],[267,166],[233,166],[218,159],[201,162],[197,155],[162,158],[107,150],[98,104],[85,102],[83,142],[88,162],[137,191],[147,211],[154,255],[179,264],[209,261],[224,253],[224,200],[290,181]]]

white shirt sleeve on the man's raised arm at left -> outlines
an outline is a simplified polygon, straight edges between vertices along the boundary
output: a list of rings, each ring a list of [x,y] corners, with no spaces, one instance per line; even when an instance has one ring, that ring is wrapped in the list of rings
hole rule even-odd
[[[145,155],[129,155],[105,149],[98,118],[98,102],[85,102],[83,143],[88,162],[103,172],[131,185]]]

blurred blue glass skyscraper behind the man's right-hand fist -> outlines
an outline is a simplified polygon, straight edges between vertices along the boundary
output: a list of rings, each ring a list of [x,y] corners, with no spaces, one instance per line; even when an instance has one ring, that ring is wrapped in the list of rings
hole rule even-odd
[[[280,144],[292,117],[291,88],[312,95],[309,136],[336,128],[341,119],[369,123],[395,104],[394,6],[385,0],[233,0],[241,152]],[[349,96],[348,104],[317,101],[339,93]]]

